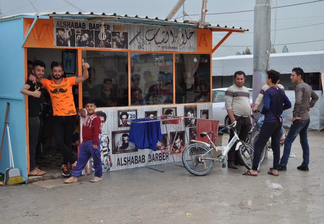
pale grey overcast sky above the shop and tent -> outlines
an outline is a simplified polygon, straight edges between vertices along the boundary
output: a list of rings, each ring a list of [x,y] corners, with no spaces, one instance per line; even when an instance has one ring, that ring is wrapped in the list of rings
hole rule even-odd
[[[31,1],[31,3],[30,3]],[[94,13],[116,13],[117,15],[128,16],[148,16],[165,19],[178,0],[70,0],[74,6],[64,3],[66,0],[0,0],[1,16],[10,16],[23,13],[37,13],[44,10],[56,12],[94,12]],[[271,39],[277,53],[281,53],[284,45],[289,52],[324,50],[324,1],[313,2],[316,0],[272,0],[272,7],[287,6],[271,9]],[[313,3],[307,3],[313,2]],[[303,5],[288,6],[299,3]],[[61,5],[63,4],[63,5]],[[60,6],[61,5],[61,6]],[[242,53],[246,47],[253,52],[253,18],[254,12],[240,12],[229,14],[208,15],[213,13],[228,13],[237,11],[253,10],[255,0],[230,0],[219,1],[209,0],[207,3],[206,22],[212,25],[219,24],[227,27],[242,27],[249,29],[244,34],[232,34],[224,44],[213,54],[213,57],[223,57],[235,55],[236,52]],[[58,7],[57,7],[58,6]],[[78,8],[78,9],[77,9]],[[198,20],[200,0],[186,0],[185,11],[189,20]],[[180,17],[177,21],[182,21],[182,7],[176,13]],[[275,20],[276,18],[276,20]],[[275,30],[276,21],[276,33]],[[316,25],[318,24],[318,25]],[[295,28],[299,27],[299,28]],[[280,30],[279,30],[280,29]],[[218,43],[226,33],[213,32],[213,45]],[[322,40],[322,41],[317,41]],[[308,42],[314,41],[314,42]],[[308,42],[308,43],[299,43]],[[231,47],[227,47],[231,46]]]

